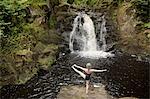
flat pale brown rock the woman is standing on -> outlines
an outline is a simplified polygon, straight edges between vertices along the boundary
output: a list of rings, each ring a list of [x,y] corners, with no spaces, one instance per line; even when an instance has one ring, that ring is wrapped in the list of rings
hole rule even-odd
[[[99,84],[98,87],[90,88],[88,94],[85,94],[85,86],[82,85],[63,86],[60,89],[57,99],[139,99],[139,98],[113,97],[107,93],[104,85]]]

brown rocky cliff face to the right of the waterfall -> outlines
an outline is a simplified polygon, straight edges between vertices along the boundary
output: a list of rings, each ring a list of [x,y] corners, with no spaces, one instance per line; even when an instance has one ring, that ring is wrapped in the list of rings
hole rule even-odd
[[[150,29],[140,28],[136,17],[137,10],[133,4],[123,2],[116,11],[119,30],[118,48],[124,52],[137,55],[150,55]]]

